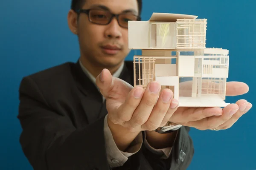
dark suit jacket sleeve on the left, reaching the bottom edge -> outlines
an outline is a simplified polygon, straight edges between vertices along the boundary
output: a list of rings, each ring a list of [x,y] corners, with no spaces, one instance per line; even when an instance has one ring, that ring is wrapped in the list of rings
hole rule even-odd
[[[19,92],[20,144],[34,170],[109,170],[104,117],[77,129],[49,107],[31,78],[22,79]]]

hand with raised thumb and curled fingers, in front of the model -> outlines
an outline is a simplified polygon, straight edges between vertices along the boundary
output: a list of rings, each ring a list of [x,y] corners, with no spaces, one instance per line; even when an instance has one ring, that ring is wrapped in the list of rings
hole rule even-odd
[[[177,109],[172,91],[160,92],[158,82],[149,83],[145,90],[134,88],[104,69],[96,78],[96,84],[106,99],[111,122],[131,132],[155,130],[165,125]]]

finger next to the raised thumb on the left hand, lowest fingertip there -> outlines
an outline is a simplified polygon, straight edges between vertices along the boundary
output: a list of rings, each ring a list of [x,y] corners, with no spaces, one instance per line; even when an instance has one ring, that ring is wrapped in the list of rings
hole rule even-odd
[[[111,121],[115,124],[125,125],[125,122],[131,120],[134,111],[140,104],[143,94],[144,89],[142,87],[135,87],[130,91],[124,103],[113,103],[116,104],[116,108],[110,107],[113,108],[112,114],[110,115]]]

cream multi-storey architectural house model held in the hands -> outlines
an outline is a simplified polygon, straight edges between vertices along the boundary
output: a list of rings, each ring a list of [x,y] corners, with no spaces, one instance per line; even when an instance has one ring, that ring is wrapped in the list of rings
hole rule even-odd
[[[229,51],[206,48],[207,19],[197,17],[153,13],[128,22],[129,49],[142,50],[134,56],[134,87],[158,81],[179,107],[225,107]]]

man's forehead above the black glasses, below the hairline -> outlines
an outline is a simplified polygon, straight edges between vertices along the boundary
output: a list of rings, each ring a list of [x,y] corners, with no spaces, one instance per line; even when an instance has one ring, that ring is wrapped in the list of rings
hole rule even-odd
[[[116,14],[129,10],[136,14],[139,13],[137,0],[86,0],[83,8],[97,8],[98,6],[105,6]]]

